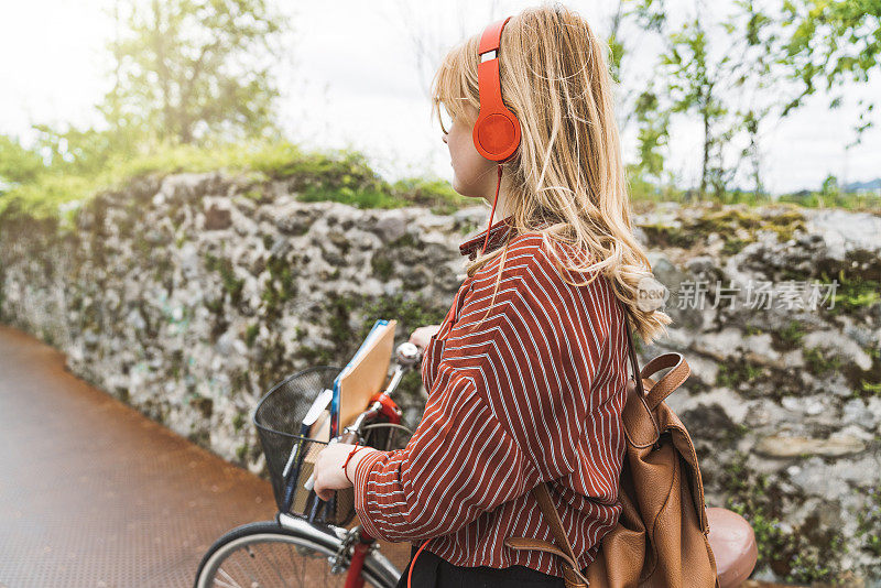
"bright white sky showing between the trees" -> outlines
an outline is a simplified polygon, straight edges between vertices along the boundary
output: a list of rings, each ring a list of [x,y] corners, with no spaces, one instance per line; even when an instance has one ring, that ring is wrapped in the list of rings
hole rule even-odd
[[[536,3],[276,1],[293,23],[285,58],[274,64],[283,128],[307,146],[363,151],[389,179],[423,174],[452,179],[449,153],[431,119],[433,68],[465,36]],[[599,36],[607,36],[617,1],[565,3]],[[715,3],[714,12],[730,3]],[[670,0],[683,14],[692,4]],[[115,32],[107,14],[111,6],[111,0],[0,0],[0,132],[29,144],[34,123],[100,124],[94,105],[110,88],[105,47]],[[425,52],[416,51],[416,39]],[[622,91],[644,87],[660,51],[648,33],[633,31],[624,41],[633,54],[624,66]],[[845,149],[852,139],[856,100],[881,96],[879,78],[847,88],[838,109],[828,108],[828,97],[815,95],[796,115],[769,126],[762,137],[765,188],[775,194],[817,188],[828,174],[844,182],[881,176],[881,112],[862,144]],[[626,162],[635,161],[635,130],[632,123],[621,127]],[[700,123],[694,116],[674,120],[668,165],[681,186],[699,181],[695,153],[700,145]]]

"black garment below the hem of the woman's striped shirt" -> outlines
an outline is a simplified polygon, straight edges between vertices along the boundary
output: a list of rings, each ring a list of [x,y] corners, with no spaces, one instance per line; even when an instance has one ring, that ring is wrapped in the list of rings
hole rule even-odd
[[[410,563],[395,588],[407,588],[406,577],[417,547],[410,549]],[[413,568],[410,588],[563,588],[563,578],[543,574],[526,566],[494,568],[489,566],[454,566],[428,549],[420,552]]]

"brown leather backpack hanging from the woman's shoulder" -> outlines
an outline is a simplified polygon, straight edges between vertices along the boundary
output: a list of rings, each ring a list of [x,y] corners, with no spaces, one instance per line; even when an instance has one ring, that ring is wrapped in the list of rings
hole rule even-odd
[[[630,316],[627,306],[624,312]],[[682,353],[664,353],[640,370],[630,328],[624,329],[634,375],[627,384],[622,413],[627,448],[618,524],[602,537],[595,560],[579,570],[548,484],[542,482],[532,491],[555,543],[527,537],[508,537],[504,543],[561,556],[566,588],[718,588],[697,456],[685,426],[664,402],[690,369]],[[650,378],[664,368],[672,369],[657,382]]]

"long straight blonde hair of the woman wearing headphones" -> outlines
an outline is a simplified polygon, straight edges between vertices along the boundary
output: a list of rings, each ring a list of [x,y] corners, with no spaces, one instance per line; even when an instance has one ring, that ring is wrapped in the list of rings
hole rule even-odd
[[[437,69],[432,112],[438,120],[443,104],[454,118],[474,123],[465,105],[480,107],[479,42],[476,34],[456,45]],[[588,261],[598,260],[564,266],[605,274],[630,308],[632,328],[651,344],[666,335],[664,326],[672,319],[660,309],[637,306],[637,285],[652,272],[630,221],[607,50],[581,17],[559,3],[525,9],[505,25],[499,50],[502,98],[521,126],[520,148],[502,164],[511,178],[507,206],[514,233],[539,230],[543,243],[556,240],[586,252]],[[468,275],[501,257],[498,291],[507,251],[505,244],[478,253],[467,265]],[[566,282],[581,286],[592,279]]]

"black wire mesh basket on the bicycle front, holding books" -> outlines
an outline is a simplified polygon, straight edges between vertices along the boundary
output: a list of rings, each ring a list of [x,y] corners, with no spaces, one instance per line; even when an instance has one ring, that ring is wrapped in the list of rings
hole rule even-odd
[[[342,368],[319,366],[289,375],[272,386],[257,405],[254,425],[267,456],[272,491],[280,511],[309,516],[316,502],[320,502],[315,492],[306,490],[303,484],[312,475],[315,457],[327,442],[302,436],[301,424],[315,398],[334,386],[340,371]],[[285,479],[284,469],[289,460],[293,467]],[[291,508],[285,509],[285,494],[291,487],[295,489],[293,500]],[[334,493],[328,508],[319,509],[314,522],[346,526],[355,514],[355,492],[347,488]]]

